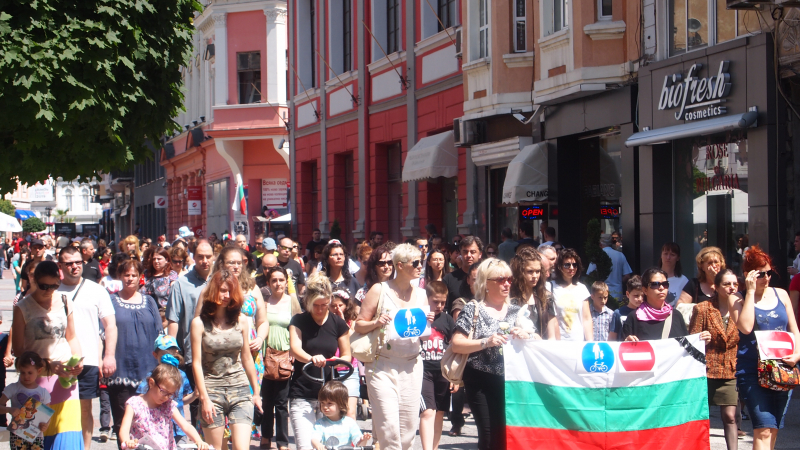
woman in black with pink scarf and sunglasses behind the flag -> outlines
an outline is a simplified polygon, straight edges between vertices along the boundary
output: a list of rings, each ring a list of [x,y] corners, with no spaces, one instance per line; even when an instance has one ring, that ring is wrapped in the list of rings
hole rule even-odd
[[[681,314],[667,303],[669,281],[667,273],[652,267],[642,274],[644,301],[641,306],[628,314],[622,325],[622,340],[652,341],[667,337],[681,337],[689,334]],[[669,323],[669,331],[664,326]],[[710,336],[701,336],[705,340]]]

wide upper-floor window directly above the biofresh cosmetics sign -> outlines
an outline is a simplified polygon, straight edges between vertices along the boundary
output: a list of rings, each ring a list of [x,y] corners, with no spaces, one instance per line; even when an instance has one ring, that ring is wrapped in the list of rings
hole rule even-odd
[[[669,56],[681,55],[762,30],[756,11],[726,8],[725,0],[667,0]],[[772,17],[764,14],[771,26]]]

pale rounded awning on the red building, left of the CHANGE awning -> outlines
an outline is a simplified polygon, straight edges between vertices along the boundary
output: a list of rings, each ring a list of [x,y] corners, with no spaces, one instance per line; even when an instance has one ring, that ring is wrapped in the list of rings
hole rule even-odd
[[[452,130],[420,139],[403,164],[403,182],[457,175],[458,150]]]

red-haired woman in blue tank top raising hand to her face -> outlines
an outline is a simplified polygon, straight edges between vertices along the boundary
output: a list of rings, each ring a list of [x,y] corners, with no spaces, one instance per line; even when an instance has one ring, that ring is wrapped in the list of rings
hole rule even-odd
[[[753,245],[744,254],[742,262],[747,291],[731,310],[731,319],[741,335],[736,360],[736,385],[739,396],[747,405],[753,421],[753,450],[775,448],[778,430],[783,428],[783,416],[789,403],[789,392],[773,391],[761,387],[758,380],[758,348],[755,331],[779,330],[794,335],[800,342],[792,303],[783,289],[769,287],[772,259],[758,245]],[[800,346],[783,358],[791,367],[800,360]]]

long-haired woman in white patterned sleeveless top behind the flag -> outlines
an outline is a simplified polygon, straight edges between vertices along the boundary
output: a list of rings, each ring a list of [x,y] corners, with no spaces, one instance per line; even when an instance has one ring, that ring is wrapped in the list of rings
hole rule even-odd
[[[592,311],[589,290],[580,282],[583,264],[578,253],[567,248],[559,252],[556,259],[556,282],[553,299],[558,314],[558,329],[561,340],[591,341]]]

